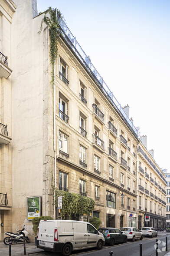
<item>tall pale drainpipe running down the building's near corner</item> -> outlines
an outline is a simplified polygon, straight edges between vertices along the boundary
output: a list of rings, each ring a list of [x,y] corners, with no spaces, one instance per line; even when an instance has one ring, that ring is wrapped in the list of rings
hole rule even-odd
[[[56,188],[56,60],[54,64],[54,185]],[[56,189],[54,189],[54,219],[56,219],[55,205]]]

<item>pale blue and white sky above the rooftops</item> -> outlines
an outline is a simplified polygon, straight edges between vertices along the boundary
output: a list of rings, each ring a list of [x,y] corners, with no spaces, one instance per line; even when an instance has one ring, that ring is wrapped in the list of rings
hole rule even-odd
[[[50,6],[170,172],[170,0],[37,0],[38,13]]]

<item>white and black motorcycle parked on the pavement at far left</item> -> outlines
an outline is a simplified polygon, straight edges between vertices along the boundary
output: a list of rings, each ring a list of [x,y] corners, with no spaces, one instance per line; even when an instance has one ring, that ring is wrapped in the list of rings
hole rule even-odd
[[[22,230],[16,229],[16,231],[18,231],[18,233],[13,233],[13,232],[6,232],[5,233],[7,235],[3,239],[3,243],[5,245],[9,245],[9,244],[12,244],[12,243],[18,243],[18,242],[23,242],[24,239],[25,239],[26,243],[31,242],[31,240],[28,236],[28,232],[25,229],[25,225],[23,226]]]

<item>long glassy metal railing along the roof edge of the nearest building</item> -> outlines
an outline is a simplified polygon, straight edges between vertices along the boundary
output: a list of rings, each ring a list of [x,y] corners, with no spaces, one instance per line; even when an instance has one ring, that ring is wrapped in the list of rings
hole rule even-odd
[[[103,77],[101,77],[101,75],[95,69],[90,58],[82,50],[82,47],[78,44],[76,40],[76,37],[73,36],[73,34],[71,33],[71,31],[69,30],[69,28],[67,27],[67,25],[65,24],[65,22],[62,20],[61,17],[59,17],[58,22],[59,22],[60,35],[62,36],[62,38],[66,41],[66,43],[69,45],[71,50],[74,52],[75,56],[78,57],[79,61],[82,62],[82,64],[91,74],[91,76],[95,79],[95,82],[98,84],[98,86],[105,93],[107,98],[111,101],[111,103],[117,109],[121,117],[126,121],[127,125],[131,128],[131,131],[133,131],[134,134],[137,136],[136,127],[133,125],[131,120],[127,117],[126,113],[121,107],[121,104],[114,97],[113,92],[110,91],[107,84],[103,80]]]

